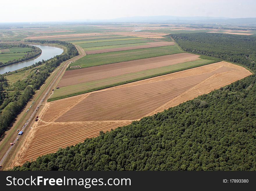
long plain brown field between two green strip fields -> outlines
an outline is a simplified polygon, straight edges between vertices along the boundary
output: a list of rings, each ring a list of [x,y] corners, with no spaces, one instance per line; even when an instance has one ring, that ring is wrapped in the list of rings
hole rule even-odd
[[[58,83],[59,87],[73,85],[108,77],[118,76],[139,72],[147,69],[153,69],[177,63],[184,63],[192,60],[198,60],[198,55],[190,53],[178,53],[166,56],[158,56],[153,58],[145,58],[140,60],[132,60],[121,63],[106,64],[81,68],[76,70],[68,70],[62,76]]]

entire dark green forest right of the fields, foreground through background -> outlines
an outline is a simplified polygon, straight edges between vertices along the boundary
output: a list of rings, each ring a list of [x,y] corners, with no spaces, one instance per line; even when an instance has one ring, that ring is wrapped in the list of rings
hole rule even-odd
[[[218,36],[226,40],[216,46]],[[177,42],[184,50],[227,55],[255,72],[253,38],[204,33],[173,37],[181,39]],[[234,47],[240,47],[240,56]],[[256,170],[255,100],[253,74],[13,170]]]

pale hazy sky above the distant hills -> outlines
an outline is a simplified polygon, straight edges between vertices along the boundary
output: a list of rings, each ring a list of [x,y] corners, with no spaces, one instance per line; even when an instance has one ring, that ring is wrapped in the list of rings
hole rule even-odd
[[[256,17],[255,0],[10,0],[0,22],[113,19],[132,16]]]

